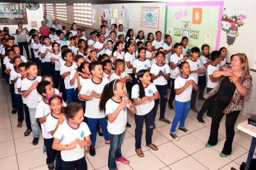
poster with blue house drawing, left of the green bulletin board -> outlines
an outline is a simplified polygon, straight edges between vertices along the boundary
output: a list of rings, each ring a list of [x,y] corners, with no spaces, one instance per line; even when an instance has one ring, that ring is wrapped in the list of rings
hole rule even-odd
[[[141,6],[141,27],[158,29],[159,7]]]

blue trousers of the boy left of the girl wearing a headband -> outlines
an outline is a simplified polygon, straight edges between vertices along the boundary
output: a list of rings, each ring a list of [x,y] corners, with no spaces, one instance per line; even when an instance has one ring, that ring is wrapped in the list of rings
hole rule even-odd
[[[108,120],[107,120],[106,117],[104,117],[104,118],[88,118],[87,117],[87,124],[88,124],[88,127],[89,127],[90,131],[91,131],[90,137],[92,139],[92,146],[95,146],[95,143],[96,143],[97,123],[98,122],[100,124],[101,129],[102,129],[104,139],[109,140],[108,129],[107,129],[108,122],[107,121]]]

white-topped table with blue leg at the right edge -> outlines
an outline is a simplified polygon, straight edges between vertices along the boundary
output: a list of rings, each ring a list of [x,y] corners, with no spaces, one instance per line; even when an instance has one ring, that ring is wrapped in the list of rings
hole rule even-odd
[[[237,125],[237,129],[252,136],[252,143],[250,146],[250,150],[249,150],[248,157],[246,160],[246,165],[245,165],[245,170],[249,170],[253,153],[255,150],[255,145],[256,145],[256,127],[249,125],[248,120],[245,120],[244,122],[241,122],[240,124]]]

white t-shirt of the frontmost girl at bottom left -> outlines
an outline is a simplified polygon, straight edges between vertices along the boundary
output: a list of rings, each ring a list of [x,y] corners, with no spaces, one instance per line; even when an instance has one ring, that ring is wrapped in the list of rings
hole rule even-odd
[[[67,121],[61,124],[53,137],[61,140],[61,145],[68,145],[76,139],[84,139],[86,136],[90,136],[91,132],[88,125],[84,122],[79,125],[77,129],[71,127]],[[64,161],[74,161],[84,157],[84,148],[81,148],[78,144],[76,148],[72,150],[61,150],[61,159]]]

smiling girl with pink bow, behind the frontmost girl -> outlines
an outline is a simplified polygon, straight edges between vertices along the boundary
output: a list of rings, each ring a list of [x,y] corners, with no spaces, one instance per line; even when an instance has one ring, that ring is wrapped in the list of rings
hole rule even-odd
[[[51,135],[54,135],[57,131],[58,127],[64,122],[65,116],[63,112],[61,111],[61,108],[63,106],[63,101],[61,99],[61,94],[59,95],[50,95],[49,97],[49,106],[51,109],[51,113],[46,118],[46,127],[47,132],[51,133]],[[49,144],[52,145],[53,138],[47,139],[49,141]],[[48,144],[48,143],[47,143]],[[56,169],[61,169],[61,155],[59,150],[53,150],[50,148],[49,152],[53,152],[56,155]],[[54,158],[53,158],[54,159]]]

